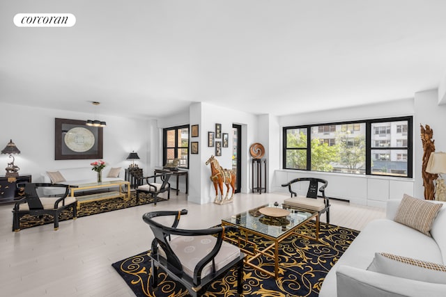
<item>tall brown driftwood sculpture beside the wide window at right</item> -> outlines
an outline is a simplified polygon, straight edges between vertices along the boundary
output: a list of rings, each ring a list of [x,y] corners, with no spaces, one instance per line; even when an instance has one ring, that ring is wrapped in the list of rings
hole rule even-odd
[[[422,165],[422,177],[423,177],[423,186],[424,186],[424,199],[425,200],[434,200],[435,195],[435,185],[433,181],[438,178],[438,175],[426,172],[427,162],[429,161],[429,157],[432,152],[435,152],[435,144],[433,137],[433,130],[429,125],[426,125],[424,128],[420,125],[421,129],[421,140],[423,144],[423,165]]]

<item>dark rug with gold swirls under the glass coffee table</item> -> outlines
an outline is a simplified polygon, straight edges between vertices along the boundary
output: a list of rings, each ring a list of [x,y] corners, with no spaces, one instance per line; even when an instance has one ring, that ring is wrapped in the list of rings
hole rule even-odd
[[[310,223],[311,224],[311,223]],[[314,226],[309,225],[311,232]],[[356,230],[321,223],[320,241],[290,236],[282,241],[279,249],[279,278],[275,280],[247,265],[244,267],[244,296],[318,296],[321,284],[330,268],[350,246],[359,234]],[[238,236],[233,233],[231,236]],[[252,239],[261,244],[262,239]],[[149,251],[123,259],[112,264],[119,275],[132,288],[136,296],[189,296],[183,285],[171,280],[160,269],[159,286],[155,292],[149,287],[151,263]],[[263,257],[257,263],[268,271],[273,271],[272,259]],[[236,296],[236,271],[229,273],[211,285],[206,296]]]

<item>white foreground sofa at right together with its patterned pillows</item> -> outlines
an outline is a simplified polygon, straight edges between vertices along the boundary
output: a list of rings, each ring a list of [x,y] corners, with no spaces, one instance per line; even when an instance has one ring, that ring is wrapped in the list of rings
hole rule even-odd
[[[441,204],[438,214],[431,216],[430,232],[426,220],[423,222],[426,235],[395,221],[401,221],[403,211],[412,211],[403,215],[409,220],[427,217],[420,208],[407,204],[415,200],[426,202],[408,195],[387,202],[386,218],[371,221],[360,232],[326,275],[320,297],[446,296],[446,205]],[[392,259],[383,253],[399,257]],[[400,257],[432,262],[429,266],[436,270]]]

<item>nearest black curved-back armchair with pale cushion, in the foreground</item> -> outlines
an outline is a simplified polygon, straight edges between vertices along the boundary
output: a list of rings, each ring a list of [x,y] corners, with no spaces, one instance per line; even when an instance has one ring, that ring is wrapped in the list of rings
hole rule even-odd
[[[153,231],[151,246],[151,285],[158,286],[157,269],[162,268],[174,281],[183,284],[191,296],[202,296],[210,284],[222,278],[231,268],[237,269],[237,292],[242,294],[243,258],[237,246],[223,241],[224,232],[236,230],[235,226],[212,227],[201,230],[177,229],[181,211],[153,211],[143,215],[143,220]],[[174,216],[174,223],[167,227],[153,218]],[[216,236],[212,236],[212,235]],[[171,236],[174,235],[174,236]]]

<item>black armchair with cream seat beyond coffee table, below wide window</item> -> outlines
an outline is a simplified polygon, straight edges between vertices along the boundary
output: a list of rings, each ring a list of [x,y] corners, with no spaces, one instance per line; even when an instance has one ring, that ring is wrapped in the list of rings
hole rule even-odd
[[[292,184],[298,182],[309,182],[306,195],[298,195],[298,193],[293,191],[291,188]],[[301,185],[303,186],[303,184]],[[299,209],[318,211],[319,216],[325,212],[327,214],[327,223],[330,223],[330,199],[325,196],[325,188],[328,186],[327,180],[314,177],[300,177],[293,179],[291,182],[286,184],[282,184],[282,186],[287,186],[289,192],[291,193],[291,198],[284,200],[285,205]],[[321,193],[321,195],[318,195],[318,191]],[[318,199],[318,197],[322,199]]]

